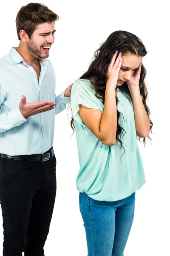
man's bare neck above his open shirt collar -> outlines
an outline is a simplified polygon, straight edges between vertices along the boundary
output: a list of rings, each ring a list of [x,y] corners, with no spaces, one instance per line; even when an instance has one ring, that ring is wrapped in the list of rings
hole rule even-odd
[[[28,66],[35,66],[37,64],[38,59],[31,55],[28,52],[27,48],[19,44],[17,52],[20,53],[21,57],[23,58],[23,61],[26,62]]]

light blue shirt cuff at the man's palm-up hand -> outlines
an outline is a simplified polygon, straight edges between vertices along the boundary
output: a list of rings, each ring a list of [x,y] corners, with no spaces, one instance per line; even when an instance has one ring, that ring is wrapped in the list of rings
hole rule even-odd
[[[14,126],[21,125],[21,124],[23,124],[24,122],[27,121],[27,119],[20,112],[19,108],[16,108],[16,109],[8,112],[7,116],[8,116],[8,120],[10,120],[10,122]]]

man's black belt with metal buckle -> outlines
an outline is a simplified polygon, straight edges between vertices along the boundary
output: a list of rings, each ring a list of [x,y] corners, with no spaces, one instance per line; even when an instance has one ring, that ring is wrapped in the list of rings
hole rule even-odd
[[[47,152],[45,152],[44,154],[32,154],[32,155],[23,155],[23,156],[9,156],[6,154],[0,154],[0,157],[2,158],[10,158],[10,159],[14,159],[14,160],[30,160],[30,161],[48,161],[50,159],[50,157],[54,156],[54,150],[53,147],[48,150]]]

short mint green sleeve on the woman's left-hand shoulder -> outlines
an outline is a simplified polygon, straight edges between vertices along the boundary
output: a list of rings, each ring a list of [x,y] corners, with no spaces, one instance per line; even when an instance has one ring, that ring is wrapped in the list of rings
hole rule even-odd
[[[79,104],[84,105],[87,108],[99,109],[102,111],[102,108],[99,104],[99,99],[97,99],[95,96],[95,92],[91,87],[91,83],[81,79],[77,80],[72,86],[71,109],[74,119],[81,125],[85,125],[78,114]]]

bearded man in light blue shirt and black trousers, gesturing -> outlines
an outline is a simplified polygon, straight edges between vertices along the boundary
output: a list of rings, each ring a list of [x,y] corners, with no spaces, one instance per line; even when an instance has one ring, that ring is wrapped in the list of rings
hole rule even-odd
[[[23,6],[16,17],[19,47],[0,59],[3,256],[44,256],[56,195],[54,118],[71,89],[55,96],[54,69],[46,60],[56,20],[45,5]]]

